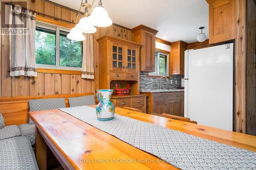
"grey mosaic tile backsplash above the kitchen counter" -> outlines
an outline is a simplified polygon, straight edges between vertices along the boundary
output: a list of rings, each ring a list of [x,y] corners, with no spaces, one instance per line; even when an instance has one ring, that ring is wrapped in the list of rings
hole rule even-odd
[[[168,82],[165,78],[161,80],[161,89],[179,88],[184,75],[170,75]],[[170,80],[173,83],[170,83]],[[177,84],[176,84],[177,80]],[[147,72],[140,72],[140,89],[159,89],[160,77],[147,77]]]

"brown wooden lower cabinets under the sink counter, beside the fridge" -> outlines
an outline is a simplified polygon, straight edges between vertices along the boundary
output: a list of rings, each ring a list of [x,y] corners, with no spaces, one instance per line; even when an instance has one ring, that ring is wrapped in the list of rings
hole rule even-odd
[[[141,92],[147,97],[147,113],[184,116],[184,92]]]

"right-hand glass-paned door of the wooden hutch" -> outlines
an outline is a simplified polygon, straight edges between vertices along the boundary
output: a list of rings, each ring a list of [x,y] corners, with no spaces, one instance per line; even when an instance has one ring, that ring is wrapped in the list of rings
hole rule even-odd
[[[138,50],[133,47],[127,47],[127,71],[137,72]]]

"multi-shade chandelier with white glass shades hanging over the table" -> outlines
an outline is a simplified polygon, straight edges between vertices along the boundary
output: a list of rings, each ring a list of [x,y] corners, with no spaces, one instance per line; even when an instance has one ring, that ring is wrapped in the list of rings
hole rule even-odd
[[[85,0],[81,0],[81,5],[76,16],[76,23],[79,16],[82,16],[79,23],[76,24],[75,28],[71,29],[67,37],[75,41],[83,41],[86,37],[82,33],[93,34],[97,31],[94,26],[97,27],[108,27],[112,25],[112,20],[110,19],[108,12],[103,8],[101,0],[99,0],[99,5],[96,7],[92,15],[92,6],[95,0],[93,0],[92,5]],[[84,10],[84,14],[80,13],[81,8]]]

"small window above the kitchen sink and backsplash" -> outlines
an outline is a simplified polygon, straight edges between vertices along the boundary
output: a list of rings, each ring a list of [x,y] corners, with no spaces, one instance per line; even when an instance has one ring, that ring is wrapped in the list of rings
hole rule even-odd
[[[169,55],[156,52],[156,70],[150,72],[150,76],[169,76]]]

